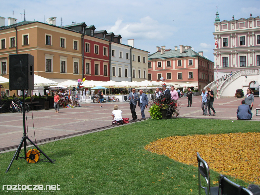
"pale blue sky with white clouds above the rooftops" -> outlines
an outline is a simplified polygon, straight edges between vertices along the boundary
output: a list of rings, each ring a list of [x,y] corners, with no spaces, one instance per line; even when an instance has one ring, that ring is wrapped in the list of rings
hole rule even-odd
[[[0,16],[22,22],[25,11],[27,21],[47,23],[47,18],[57,17],[57,26],[85,22],[96,31],[120,34],[123,44],[134,39],[134,47],[149,54],[156,46],[188,45],[214,62],[216,5],[220,21],[260,15],[260,0],[2,0]]]

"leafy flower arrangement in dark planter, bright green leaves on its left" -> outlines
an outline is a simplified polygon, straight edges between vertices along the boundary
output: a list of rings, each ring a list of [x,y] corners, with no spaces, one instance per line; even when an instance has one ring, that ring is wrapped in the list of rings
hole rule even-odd
[[[165,119],[165,117],[171,118],[172,113],[175,110],[179,110],[178,106],[180,107],[178,102],[165,97],[164,93],[162,92],[159,97],[154,97],[153,101],[149,105],[148,112],[150,113],[152,119]]]

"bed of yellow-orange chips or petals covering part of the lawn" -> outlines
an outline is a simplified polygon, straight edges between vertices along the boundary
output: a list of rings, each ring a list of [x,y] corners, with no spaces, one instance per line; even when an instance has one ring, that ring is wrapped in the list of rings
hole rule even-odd
[[[198,166],[196,152],[221,174],[260,184],[260,133],[171,136],[145,149],[188,165]]]

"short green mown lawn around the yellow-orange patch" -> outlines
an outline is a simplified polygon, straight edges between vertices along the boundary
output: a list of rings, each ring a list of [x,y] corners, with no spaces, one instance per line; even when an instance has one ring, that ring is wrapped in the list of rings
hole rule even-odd
[[[144,146],[174,135],[236,132],[260,132],[259,122],[149,119],[40,145],[43,152],[56,160],[55,164],[29,164],[18,159],[5,173],[15,151],[0,154],[0,184],[59,184],[60,190],[55,194],[198,194],[197,167],[148,152]],[[218,175],[211,171],[212,180],[217,181]],[[238,179],[236,183],[248,185]],[[7,192],[1,189],[0,194]]]

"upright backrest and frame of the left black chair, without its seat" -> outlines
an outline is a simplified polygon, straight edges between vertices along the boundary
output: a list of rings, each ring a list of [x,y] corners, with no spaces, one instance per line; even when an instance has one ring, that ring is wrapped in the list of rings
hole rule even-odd
[[[199,176],[199,195],[200,195],[200,188],[205,188],[201,185],[201,175],[205,178],[207,183],[207,192],[210,194],[210,170],[207,162],[203,160],[199,153],[197,152],[197,160],[198,160],[198,176]]]

